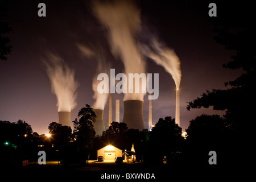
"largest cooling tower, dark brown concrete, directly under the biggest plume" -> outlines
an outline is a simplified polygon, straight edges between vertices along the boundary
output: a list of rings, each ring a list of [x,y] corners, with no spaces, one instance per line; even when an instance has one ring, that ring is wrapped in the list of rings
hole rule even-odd
[[[123,101],[123,122],[129,129],[143,130],[145,128],[143,119],[143,101],[127,100]]]

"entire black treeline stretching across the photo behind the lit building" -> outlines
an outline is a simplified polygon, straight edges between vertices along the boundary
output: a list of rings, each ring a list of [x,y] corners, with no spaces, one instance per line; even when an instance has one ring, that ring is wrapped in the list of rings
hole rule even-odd
[[[234,130],[230,129],[225,118],[219,115],[200,115],[189,122],[187,136],[171,117],[160,118],[152,131],[129,129],[126,123],[112,122],[109,129],[100,137],[95,136],[93,123],[95,113],[89,105],[79,112],[79,118],[71,127],[52,122],[49,134],[33,133],[25,121],[16,123],[0,121],[1,163],[20,166],[22,160],[36,161],[38,151],[46,151],[47,160],[59,160],[64,164],[96,160],[97,150],[112,144],[123,151],[130,151],[134,144],[138,162],[163,164],[164,156],[172,166],[210,166],[209,152],[217,154],[217,166],[247,164],[251,157],[240,155],[234,149]],[[245,141],[246,142],[246,141]],[[247,143],[247,142],[246,142]],[[239,143],[238,143],[239,144]],[[253,146],[253,143],[250,143]],[[250,146],[236,146],[246,151]]]

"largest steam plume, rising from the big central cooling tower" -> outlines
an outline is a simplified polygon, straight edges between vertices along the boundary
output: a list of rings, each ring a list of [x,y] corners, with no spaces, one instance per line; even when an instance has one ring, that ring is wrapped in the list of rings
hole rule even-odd
[[[130,1],[94,2],[96,17],[108,28],[109,43],[116,58],[121,58],[125,74],[146,73],[146,63],[138,51],[135,35],[141,30],[139,9]],[[141,87],[140,85],[137,85]],[[143,101],[144,93],[125,94],[124,100]]]

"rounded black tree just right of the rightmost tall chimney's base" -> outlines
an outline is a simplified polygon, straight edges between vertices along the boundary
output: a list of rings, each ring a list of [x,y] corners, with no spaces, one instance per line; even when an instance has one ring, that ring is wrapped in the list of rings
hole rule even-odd
[[[224,145],[228,143],[225,119],[216,114],[202,114],[189,121],[186,132],[185,162],[193,166],[207,166],[209,151],[216,151],[218,164],[222,163],[220,162],[221,157],[227,155],[224,151]]]

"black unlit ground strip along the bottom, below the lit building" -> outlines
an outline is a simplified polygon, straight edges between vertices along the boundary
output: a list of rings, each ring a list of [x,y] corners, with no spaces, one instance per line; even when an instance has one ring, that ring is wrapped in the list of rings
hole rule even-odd
[[[219,181],[236,179],[238,176],[248,176],[243,171],[230,168],[172,166],[170,164],[151,163],[101,163],[92,162],[81,166],[80,164],[57,164],[47,162],[45,165],[30,163],[23,168],[7,167],[1,173],[11,172],[12,178],[26,179],[26,181],[191,181],[192,179],[204,181]],[[149,173],[148,179],[126,179],[127,173]],[[120,175],[117,179],[101,179],[102,175]],[[152,177],[154,174],[154,177]],[[9,175],[8,175],[9,176]],[[37,176],[36,178],[34,176]],[[123,177],[122,177],[123,176]],[[243,181],[245,179],[243,178]]]

